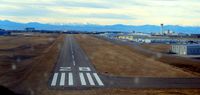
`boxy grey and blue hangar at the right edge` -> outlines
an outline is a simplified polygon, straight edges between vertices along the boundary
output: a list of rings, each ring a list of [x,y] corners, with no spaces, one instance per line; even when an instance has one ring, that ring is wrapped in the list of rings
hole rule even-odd
[[[200,55],[200,44],[172,45],[171,51],[179,55]]]

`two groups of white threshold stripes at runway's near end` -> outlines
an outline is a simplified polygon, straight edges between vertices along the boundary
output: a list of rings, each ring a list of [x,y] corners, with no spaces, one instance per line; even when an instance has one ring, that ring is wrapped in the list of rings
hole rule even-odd
[[[51,81],[51,86],[104,86],[97,73],[80,72],[78,79],[75,80],[72,72],[54,73]],[[77,82],[74,85],[74,82]]]

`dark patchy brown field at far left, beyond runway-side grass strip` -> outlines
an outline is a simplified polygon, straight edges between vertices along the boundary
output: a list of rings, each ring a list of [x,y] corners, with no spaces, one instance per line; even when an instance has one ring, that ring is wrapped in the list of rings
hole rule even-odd
[[[22,81],[34,65],[32,60],[43,54],[52,43],[49,38],[55,36],[0,37],[0,85],[12,87]]]

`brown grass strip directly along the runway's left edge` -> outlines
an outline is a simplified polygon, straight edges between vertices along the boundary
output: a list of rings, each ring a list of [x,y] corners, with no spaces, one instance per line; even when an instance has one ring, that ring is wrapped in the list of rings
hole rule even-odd
[[[63,41],[63,36],[59,37],[50,47],[45,50],[45,53],[33,60],[36,64],[30,75],[17,87],[14,87],[14,91],[23,94],[35,95],[49,95],[47,82],[50,77],[50,72],[57,61],[59,52],[58,45]],[[42,94],[43,93],[43,94]],[[46,94],[44,94],[46,93]]]

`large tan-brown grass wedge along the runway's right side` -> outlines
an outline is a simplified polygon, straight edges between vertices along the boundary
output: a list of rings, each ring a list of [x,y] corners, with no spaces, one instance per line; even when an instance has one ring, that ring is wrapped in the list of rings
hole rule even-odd
[[[76,36],[96,69],[116,76],[191,77],[192,74],[136,53],[126,46],[115,45],[90,36]]]

